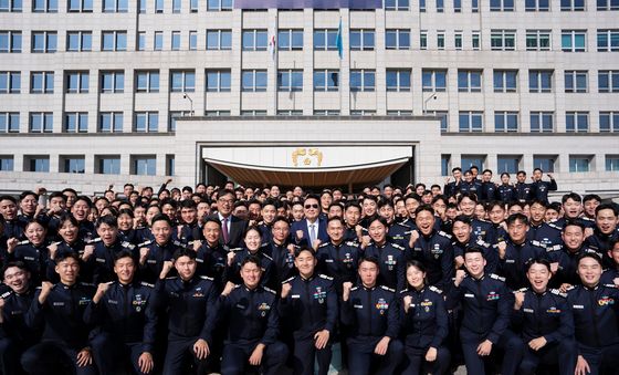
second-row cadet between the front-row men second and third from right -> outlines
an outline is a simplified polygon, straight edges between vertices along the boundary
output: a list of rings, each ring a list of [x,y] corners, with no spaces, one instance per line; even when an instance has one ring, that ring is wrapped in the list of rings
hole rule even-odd
[[[527,287],[526,262],[532,259],[547,258],[546,249],[538,242],[528,242],[526,231],[528,220],[523,213],[513,213],[506,220],[508,238],[505,242],[500,242],[499,268],[496,273],[505,278],[506,285],[515,291]]]

